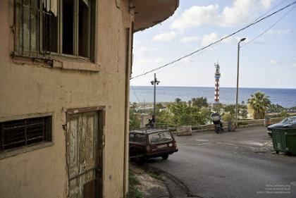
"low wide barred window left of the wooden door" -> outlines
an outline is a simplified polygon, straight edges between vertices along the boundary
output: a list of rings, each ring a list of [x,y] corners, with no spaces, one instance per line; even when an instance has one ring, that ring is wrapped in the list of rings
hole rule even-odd
[[[51,116],[0,123],[0,151],[51,142]]]

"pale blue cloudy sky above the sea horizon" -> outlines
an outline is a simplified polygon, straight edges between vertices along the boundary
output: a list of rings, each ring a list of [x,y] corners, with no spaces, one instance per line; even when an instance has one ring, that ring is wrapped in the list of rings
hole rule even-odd
[[[180,0],[167,20],[135,32],[132,86],[214,87],[214,64],[220,66],[220,87],[236,87],[238,42],[239,87],[296,88],[295,0]],[[222,42],[171,63],[226,37],[262,17],[292,4]],[[259,18],[259,19],[258,19]]]

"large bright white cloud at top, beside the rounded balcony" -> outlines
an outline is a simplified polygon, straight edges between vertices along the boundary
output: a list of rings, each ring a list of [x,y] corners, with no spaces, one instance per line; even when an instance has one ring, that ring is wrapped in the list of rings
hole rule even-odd
[[[236,0],[232,6],[226,6],[220,13],[219,6],[192,6],[175,19],[171,28],[185,30],[188,27],[199,27],[210,24],[219,27],[244,25],[265,11],[274,0]]]

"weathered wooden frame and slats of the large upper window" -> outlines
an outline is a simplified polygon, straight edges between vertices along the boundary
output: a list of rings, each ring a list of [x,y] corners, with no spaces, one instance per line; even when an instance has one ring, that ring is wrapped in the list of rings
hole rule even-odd
[[[17,1],[22,1],[22,3],[18,3]],[[30,0],[35,1],[35,0]],[[44,13],[48,12],[47,8],[42,6],[43,0],[37,0],[39,1],[39,7],[36,9],[36,24],[37,24],[37,47],[36,49],[31,49],[31,42],[30,42],[30,49],[26,49],[24,44],[19,44],[20,39],[18,37],[22,37],[21,42],[23,42],[24,37],[20,35],[20,28],[18,25],[23,25],[25,22],[23,19],[20,19],[23,16],[17,16],[17,6],[19,6],[19,11],[23,12],[24,7],[29,7],[30,9],[30,20],[31,20],[31,9],[35,9],[30,6],[26,6],[24,4],[23,0],[15,0],[14,1],[14,49],[13,49],[13,57],[22,57],[22,58],[38,58],[38,59],[45,59],[45,60],[52,60],[52,61],[87,61],[90,63],[96,63],[97,61],[94,59],[95,53],[97,51],[95,45],[97,42],[97,0],[90,0],[90,14],[89,14],[89,35],[88,35],[88,43],[90,44],[90,47],[88,47],[88,56],[80,56],[79,55],[79,3],[80,0],[74,0],[73,1],[73,54],[65,54],[63,53],[63,0],[56,0],[57,1],[57,14],[56,14],[56,30],[57,30],[57,40],[56,40],[56,51],[48,51],[44,50],[44,33],[43,29],[45,26],[50,26],[51,23],[47,24],[44,23]],[[51,0],[48,0],[51,1]],[[42,14],[43,13],[43,14]],[[23,13],[22,13],[23,14]],[[24,14],[23,14],[24,15]],[[19,28],[19,29],[18,29]],[[31,27],[30,27],[31,28]],[[22,30],[23,31],[23,30]],[[31,33],[33,32],[31,29],[30,31],[30,41],[31,41]],[[39,32],[39,34],[38,34]],[[51,35],[49,35],[51,37]],[[49,40],[49,43],[51,41]],[[25,53],[24,53],[25,51]],[[20,53],[21,52],[21,53]],[[96,69],[97,70],[97,69]]]

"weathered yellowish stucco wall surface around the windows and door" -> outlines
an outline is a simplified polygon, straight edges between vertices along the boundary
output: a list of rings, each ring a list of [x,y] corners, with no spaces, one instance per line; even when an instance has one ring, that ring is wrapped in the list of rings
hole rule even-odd
[[[66,197],[66,110],[106,106],[104,197],[123,197],[128,1],[98,1],[97,63],[92,71],[13,63],[13,0],[0,2],[0,119],[53,112],[50,147],[0,159],[0,197]],[[126,184],[125,184],[126,185]]]

